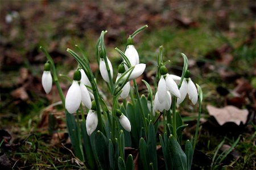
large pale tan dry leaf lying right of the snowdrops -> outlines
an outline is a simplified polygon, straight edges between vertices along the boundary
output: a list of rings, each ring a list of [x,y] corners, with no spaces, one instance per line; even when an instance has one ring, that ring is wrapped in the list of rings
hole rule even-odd
[[[247,109],[238,109],[232,105],[227,105],[224,108],[216,108],[212,105],[207,105],[207,110],[210,116],[216,118],[220,125],[224,125],[226,122],[234,122],[239,126],[241,121],[245,124],[249,114]]]

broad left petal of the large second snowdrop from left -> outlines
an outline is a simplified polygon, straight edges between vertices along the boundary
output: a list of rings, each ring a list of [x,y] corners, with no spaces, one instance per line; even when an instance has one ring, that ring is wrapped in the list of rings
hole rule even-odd
[[[81,89],[77,81],[73,80],[65,101],[65,108],[69,113],[75,113],[81,104]]]

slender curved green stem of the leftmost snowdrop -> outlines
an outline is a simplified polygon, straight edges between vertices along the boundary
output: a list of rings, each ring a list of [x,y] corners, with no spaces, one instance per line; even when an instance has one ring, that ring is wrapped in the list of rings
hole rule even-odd
[[[46,49],[43,48],[43,46],[40,46],[40,49],[43,51],[44,54],[46,54],[46,58],[51,63],[53,82],[56,84],[57,90],[58,90],[59,95],[60,95],[60,99],[62,101],[63,107],[65,108],[65,97],[64,97],[63,91],[62,91],[62,89],[60,87],[60,83],[59,83],[59,79],[58,79],[58,76],[57,76],[57,71],[55,69],[55,65],[54,65],[53,59],[49,55],[49,53],[46,51]]]

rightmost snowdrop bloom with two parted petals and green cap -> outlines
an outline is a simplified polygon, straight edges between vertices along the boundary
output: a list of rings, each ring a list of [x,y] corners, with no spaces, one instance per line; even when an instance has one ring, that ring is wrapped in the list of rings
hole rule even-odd
[[[177,104],[180,104],[183,102],[185,97],[188,94],[189,100],[192,101],[193,105],[197,103],[197,90],[195,84],[192,82],[190,78],[190,73],[187,70],[187,73],[184,76],[183,82],[180,86],[180,99],[177,99]]]

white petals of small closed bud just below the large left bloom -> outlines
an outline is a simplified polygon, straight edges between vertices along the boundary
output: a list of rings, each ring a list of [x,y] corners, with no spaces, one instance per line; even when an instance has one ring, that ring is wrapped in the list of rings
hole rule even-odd
[[[96,130],[97,125],[98,125],[97,113],[90,110],[86,118],[86,131],[89,136],[93,133],[93,131]]]

